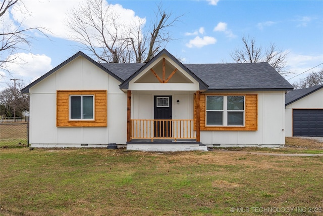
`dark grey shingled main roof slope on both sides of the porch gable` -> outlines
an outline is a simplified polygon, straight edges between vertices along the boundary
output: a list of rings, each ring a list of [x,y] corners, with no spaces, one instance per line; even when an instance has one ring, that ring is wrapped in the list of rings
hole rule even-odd
[[[123,80],[145,64],[101,64]],[[208,85],[208,90],[293,90],[268,63],[184,64]]]

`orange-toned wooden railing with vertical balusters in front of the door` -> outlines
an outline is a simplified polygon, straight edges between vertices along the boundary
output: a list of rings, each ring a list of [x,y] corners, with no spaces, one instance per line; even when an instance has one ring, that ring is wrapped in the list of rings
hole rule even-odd
[[[131,139],[196,139],[193,119],[131,119]]]

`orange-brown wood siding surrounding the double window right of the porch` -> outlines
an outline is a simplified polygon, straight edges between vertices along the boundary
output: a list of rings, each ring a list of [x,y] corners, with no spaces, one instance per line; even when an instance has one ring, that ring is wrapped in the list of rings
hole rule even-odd
[[[206,126],[206,95],[245,96],[245,125],[244,126]],[[194,110],[196,97],[194,96]],[[196,119],[194,111],[194,119]],[[231,94],[200,94],[200,131],[257,131],[258,129],[258,95]]]

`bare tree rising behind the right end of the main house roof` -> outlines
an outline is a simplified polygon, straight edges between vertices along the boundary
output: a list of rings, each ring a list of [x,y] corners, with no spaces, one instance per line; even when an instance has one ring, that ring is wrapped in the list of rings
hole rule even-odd
[[[254,38],[242,36],[243,48],[236,48],[230,53],[236,63],[268,62],[281,75],[286,76],[291,72],[286,70],[286,56],[288,52],[279,50],[276,44],[271,44],[263,49],[256,45]]]

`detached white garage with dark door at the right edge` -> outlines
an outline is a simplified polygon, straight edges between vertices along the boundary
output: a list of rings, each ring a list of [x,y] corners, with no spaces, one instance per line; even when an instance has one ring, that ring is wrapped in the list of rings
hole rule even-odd
[[[286,137],[323,137],[323,84],[285,96]]]

